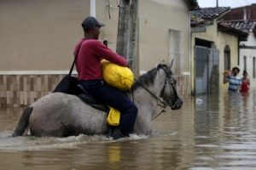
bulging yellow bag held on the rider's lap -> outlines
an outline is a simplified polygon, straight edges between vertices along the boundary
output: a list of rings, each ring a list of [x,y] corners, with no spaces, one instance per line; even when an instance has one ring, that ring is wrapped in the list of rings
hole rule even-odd
[[[128,67],[115,65],[106,59],[102,59],[102,76],[110,86],[123,91],[130,89],[134,80]]]

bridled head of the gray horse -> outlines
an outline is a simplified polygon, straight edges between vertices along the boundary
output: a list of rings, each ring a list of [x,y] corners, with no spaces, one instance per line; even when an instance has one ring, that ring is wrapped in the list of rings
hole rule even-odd
[[[166,104],[171,107],[172,110],[178,110],[183,105],[183,100],[177,94],[176,84],[177,80],[173,77],[172,62],[170,65],[165,65],[163,63],[157,65],[157,69],[164,69],[166,72],[165,84],[161,90],[160,97],[166,101]]]

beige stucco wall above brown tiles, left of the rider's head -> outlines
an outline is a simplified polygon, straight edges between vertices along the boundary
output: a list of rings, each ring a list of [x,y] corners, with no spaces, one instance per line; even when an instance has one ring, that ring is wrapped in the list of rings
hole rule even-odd
[[[67,71],[90,0],[0,1],[0,71]]]

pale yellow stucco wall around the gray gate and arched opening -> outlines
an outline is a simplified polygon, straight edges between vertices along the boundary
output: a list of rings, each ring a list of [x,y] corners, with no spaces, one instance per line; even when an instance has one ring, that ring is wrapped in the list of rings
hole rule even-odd
[[[237,37],[218,31],[217,21],[212,26],[207,26],[206,32],[194,32],[191,35],[191,90],[195,93],[195,38],[212,42],[212,48],[219,50],[219,92],[228,90],[228,84],[223,84],[224,48],[230,46],[231,67],[237,66]]]

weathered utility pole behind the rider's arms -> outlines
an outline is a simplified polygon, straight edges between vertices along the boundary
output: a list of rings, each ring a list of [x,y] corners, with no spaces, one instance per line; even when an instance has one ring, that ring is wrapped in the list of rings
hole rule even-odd
[[[138,34],[138,1],[120,0],[119,3],[119,27],[116,52],[132,59],[130,68],[135,77],[138,76],[137,64],[137,34]]]

